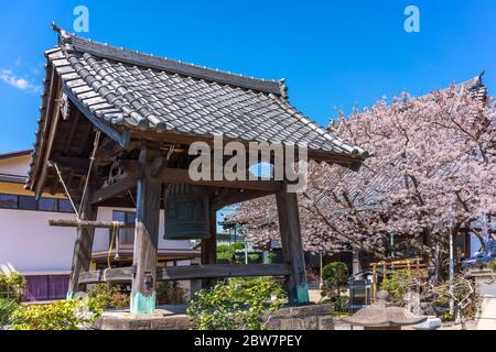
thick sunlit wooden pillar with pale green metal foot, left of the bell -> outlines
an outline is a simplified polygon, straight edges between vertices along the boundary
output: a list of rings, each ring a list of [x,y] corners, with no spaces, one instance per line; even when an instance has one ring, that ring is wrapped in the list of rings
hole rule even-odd
[[[152,177],[152,163],[158,157],[161,157],[160,151],[145,147],[139,157],[141,176],[138,179],[136,209],[132,314],[152,314],[155,309],[161,183],[159,178]]]

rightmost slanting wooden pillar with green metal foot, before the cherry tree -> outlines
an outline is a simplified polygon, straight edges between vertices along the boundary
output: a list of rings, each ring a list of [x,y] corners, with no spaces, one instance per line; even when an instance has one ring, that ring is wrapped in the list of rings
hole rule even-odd
[[[309,301],[309,285],[305,276],[305,262],[300,230],[300,215],[296,194],[288,193],[287,186],[276,194],[284,262],[291,265],[287,277],[288,300],[290,305]]]

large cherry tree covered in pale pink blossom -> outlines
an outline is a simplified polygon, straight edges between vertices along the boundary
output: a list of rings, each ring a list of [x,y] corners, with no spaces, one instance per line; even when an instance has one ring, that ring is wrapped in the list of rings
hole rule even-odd
[[[450,233],[496,211],[495,121],[493,100],[456,86],[341,117],[333,132],[371,156],[358,173],[310,163],[299,194],[305,250],[385,257],[395,235],[406,254],[432,261],[448,251]],[[246,223],[258,244],[279,237],[272,196],[239,205],[230,220]]]

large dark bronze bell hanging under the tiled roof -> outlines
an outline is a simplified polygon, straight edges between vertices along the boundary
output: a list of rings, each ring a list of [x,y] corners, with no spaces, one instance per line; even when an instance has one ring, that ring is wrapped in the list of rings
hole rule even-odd
[[[208,188],[170,185],[165,188],[165,240],[201,240],[209,233]]]

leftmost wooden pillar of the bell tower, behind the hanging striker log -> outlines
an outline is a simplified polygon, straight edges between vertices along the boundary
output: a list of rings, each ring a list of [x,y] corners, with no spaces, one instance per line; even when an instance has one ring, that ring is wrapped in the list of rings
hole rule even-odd
[[[88,189],[83,206],[80,207],[80,220],[96,220],[98,208],[90,205],[91,188]],[[77,207],[77,206],[76,206]],[[91,262],[94,228],[77,228],[76,242],[74,243],[73,263],[71,265],[71,278],[67,288],[67,299],[72,299],[79,292],[79,274],[89,271]]]

